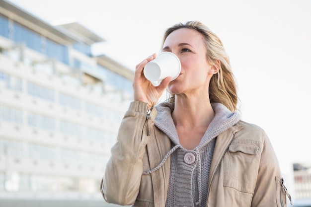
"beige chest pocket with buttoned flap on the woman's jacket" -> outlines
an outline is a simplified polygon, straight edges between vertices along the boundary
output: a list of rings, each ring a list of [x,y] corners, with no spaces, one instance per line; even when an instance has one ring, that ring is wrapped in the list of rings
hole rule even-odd
[[[232,143],[224,156],[224,186],[245,193],[253,193],[259,159],[257,141],[242,140]]]

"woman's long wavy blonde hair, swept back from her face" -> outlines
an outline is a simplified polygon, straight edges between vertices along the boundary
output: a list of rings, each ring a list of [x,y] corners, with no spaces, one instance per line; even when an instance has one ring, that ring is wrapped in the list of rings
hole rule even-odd
[[[232,112],[237,109],[237,87],[231,70],[230,61],[225,52],[223,43],[207,26],[200,21],[188,21],[185,24],[178,23],[168,28],[163,36],[162,47],[167,36],[173,31],[188,28],[202,34],[206,47],[206,58],[210,64],[217,67],[218,73],[211,78],[209,85],[209,96],[211,103],[222,103]],[[220,65],[217,61],[220,61]],[[174,94],[170,93],[168,102],[175,101]]]

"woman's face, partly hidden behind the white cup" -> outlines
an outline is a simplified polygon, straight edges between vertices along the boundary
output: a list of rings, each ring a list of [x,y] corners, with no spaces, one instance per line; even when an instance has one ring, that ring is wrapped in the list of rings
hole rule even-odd
[[[217,70],[206,59],[206,47],[201,33],[188,28],[177,29],[167,36],[162,51],[174,53],[181,63],[179,76],[168,85],[171,93],[208,91],[209,81]]]

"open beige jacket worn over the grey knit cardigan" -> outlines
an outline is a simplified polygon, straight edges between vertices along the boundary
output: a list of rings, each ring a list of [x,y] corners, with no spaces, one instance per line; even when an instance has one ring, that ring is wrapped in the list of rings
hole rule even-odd
[[[146,103],[132,102],[121,123],[101,182],[108,203],[165,207],[170,159],[150,175],[143,172],[162,161],[171,142],[154,126],[156,109],[150,120],[147,110]],[[217,137],[208,183],[206,207],[287,206],[289,194],[269,139],[242,121]]]

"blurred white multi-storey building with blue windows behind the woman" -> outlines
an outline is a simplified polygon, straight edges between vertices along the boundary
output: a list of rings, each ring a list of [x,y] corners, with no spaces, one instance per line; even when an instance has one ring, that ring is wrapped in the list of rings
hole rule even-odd
[[[77,22],[0,0],[0,206],[108,207],[99,184],[134,72]]]

